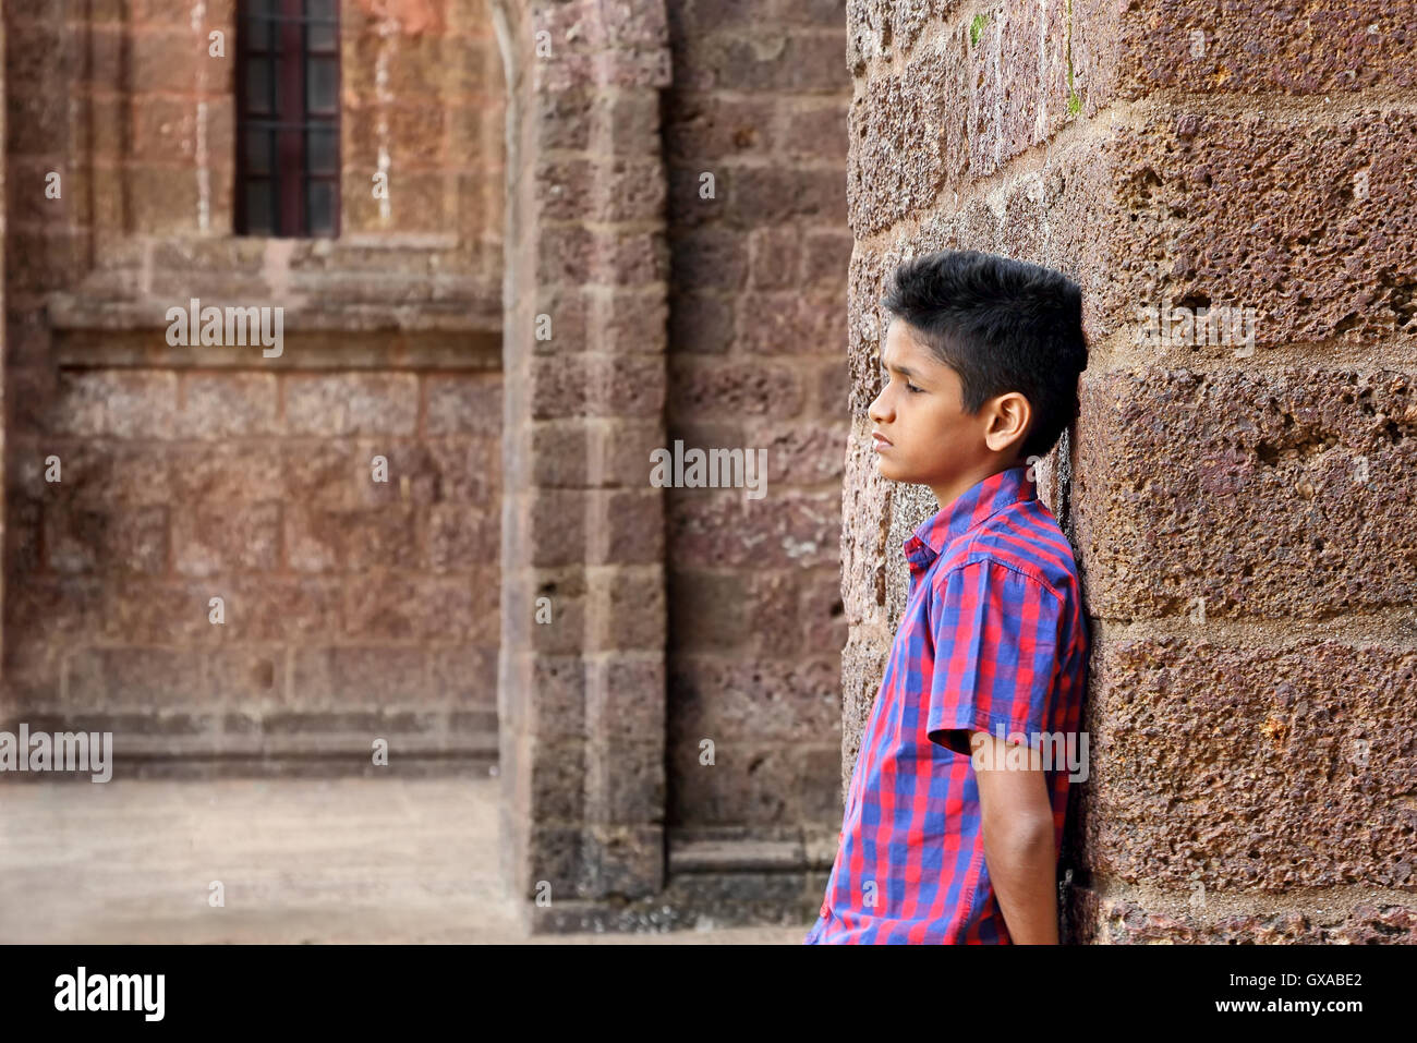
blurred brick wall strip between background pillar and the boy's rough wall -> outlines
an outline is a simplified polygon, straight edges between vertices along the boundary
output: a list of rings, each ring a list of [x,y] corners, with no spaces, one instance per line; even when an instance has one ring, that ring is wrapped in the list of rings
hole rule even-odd
[[[815,849],[842,815],[845,4],[666,10],[667,445],[767,461],[761,499],[666,492],[667,816]]]

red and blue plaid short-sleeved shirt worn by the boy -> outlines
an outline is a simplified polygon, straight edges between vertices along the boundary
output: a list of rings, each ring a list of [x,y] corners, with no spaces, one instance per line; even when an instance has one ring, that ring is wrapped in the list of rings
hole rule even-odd
[[[937,512],[904,551],[910,595],[803,941],[1009,944],[968,731],[948,730],[1002,724],[1034,747],[1034,733],[1077,733],[1088,635],[1073,548],[1016,466]],[[1054,852],[1076,767],[1054,760],[1046,772]]]

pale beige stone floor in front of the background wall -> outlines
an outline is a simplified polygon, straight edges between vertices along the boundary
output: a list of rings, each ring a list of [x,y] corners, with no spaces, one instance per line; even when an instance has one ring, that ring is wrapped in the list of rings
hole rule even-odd
[[[0,942],[801,944],[809,924],[527,935],[496,778],[11,782]],[[221,881],[222,907],[213,907]]]

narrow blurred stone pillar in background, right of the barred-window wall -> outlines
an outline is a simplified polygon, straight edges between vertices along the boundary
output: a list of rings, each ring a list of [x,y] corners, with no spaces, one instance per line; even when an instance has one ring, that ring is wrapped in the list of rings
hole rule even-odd
[[[502,0],[503,872],[534,931],[665,883],[659,3]]]

